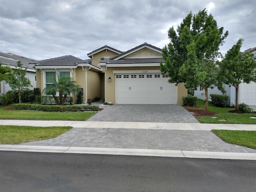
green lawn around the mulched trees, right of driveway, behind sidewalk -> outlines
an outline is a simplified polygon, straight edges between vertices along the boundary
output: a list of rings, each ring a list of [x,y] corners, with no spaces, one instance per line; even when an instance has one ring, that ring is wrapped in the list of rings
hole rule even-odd
[[[198,99],[197,105],[202,106],[201,110],[204,109],[204,100]],[[193,108],[198,109],[198,108]],[[208,110],[212,112],[216,112],[218,114],[214,115],[218,118],[211,118],[210,116],[200,116],[196,117],[196,119],[200,123],[222,123],[222,124],[256,124],[256,119],[250,117],[256,117],[256,114],[238,114],[238,113],[230,113],[228,111],[235,110],[235,108],[221,108],[215,107],[209,104]],[[219,121],[226,120],[226,121]]]

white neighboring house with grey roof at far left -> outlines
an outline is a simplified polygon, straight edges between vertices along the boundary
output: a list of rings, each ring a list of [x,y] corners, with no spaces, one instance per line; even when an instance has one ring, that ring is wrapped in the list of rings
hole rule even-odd
[[[29,63],[36,60],[13,53],[0,52],[0,61],[2,62],[2,66],[9,66],[13,69],[16,68],[17,61],[20,61],[23,64],[23,69],[26,69],[26,77],[30,79],[30,83],[33,86],[30,89],[36,88],[36,70],[29,65]],[[6,94],[9,90],[12,90],[9,84],[6,84],[5,81],[0,82],[0,94]]]

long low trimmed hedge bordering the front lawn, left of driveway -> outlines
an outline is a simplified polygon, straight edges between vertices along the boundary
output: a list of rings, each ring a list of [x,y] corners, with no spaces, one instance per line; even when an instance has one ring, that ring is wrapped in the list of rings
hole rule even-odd
[[[16,110],[35,110],[35,111],[99,111],[96,105],[38,105],[38,104],[12,104],[12,108]]]

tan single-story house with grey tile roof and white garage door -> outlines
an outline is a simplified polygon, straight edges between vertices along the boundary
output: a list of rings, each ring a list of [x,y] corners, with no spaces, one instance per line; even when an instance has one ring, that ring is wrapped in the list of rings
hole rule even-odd
[[[68,55],[30,63],[36,70],[36,87],[43,90],[58,74],[72,77],[84,89],[84,102],[100,97],[112,104],[181,105],[187,96],[184,84],[169,84],[168,76],[161,74],[162,50],[151,44],[126,52],[106,45],[87,56],[90,59]]]

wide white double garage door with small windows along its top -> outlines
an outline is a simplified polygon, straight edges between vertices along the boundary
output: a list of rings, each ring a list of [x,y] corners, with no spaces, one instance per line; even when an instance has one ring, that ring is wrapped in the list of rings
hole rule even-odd
[[[167,75],[115,74],[116,104],[177,104],[177,87]]]

